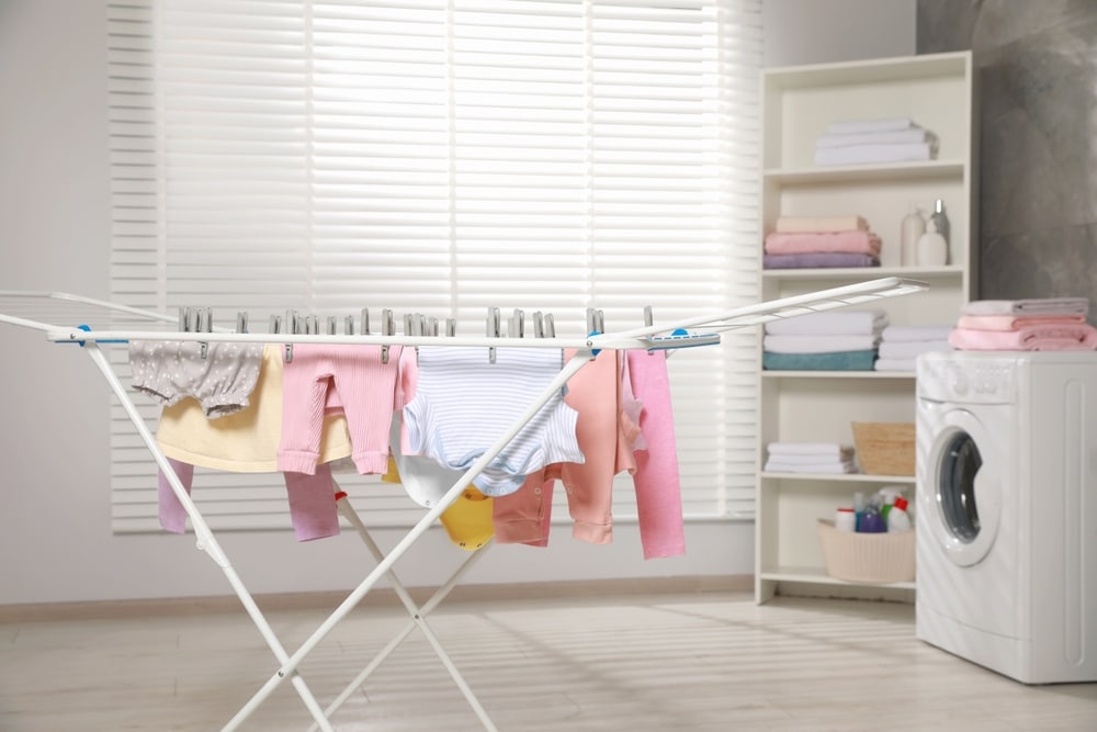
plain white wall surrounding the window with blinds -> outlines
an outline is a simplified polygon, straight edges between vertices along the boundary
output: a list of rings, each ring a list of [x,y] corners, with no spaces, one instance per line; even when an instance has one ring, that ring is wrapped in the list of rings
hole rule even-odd
[[[837,60],[855,48],[867,49],[861,57],[913,53],[913,41],[908,48],[879,45],[884,37],[913,38],[906,12],[913,3],[767,0],[767,63]],[[0,289],[109,294],[104,5],[0,0]],[[893,14],[874,13],[866,32],[860,14],[875,5]],[[803,43],[783,41],[799,38],[805,25],[828,29],[816,32],[829,42],[813,46],[813,58],[803,56]],[[0,605],[229,594],[192,538],[111,534],[112,397],[90,360],[36,331],[0,326],[0,439],[9,461],[0,473]],[[546,550],[491,549],[466,582],[753,572],[749,523],[691,523],[687,556],[672,560],[644,561],[636,534],[635,526],[621,526],[612,545],[591,547],[559,527]],[[400,536],[381,532],[377,540],[391,547]],[[274,531],[219,540],[253,593],[350,588],[372,567],[351,531],[304,544]],[[396,568],[412,586],[434,585],[463,558],[433,531]]]

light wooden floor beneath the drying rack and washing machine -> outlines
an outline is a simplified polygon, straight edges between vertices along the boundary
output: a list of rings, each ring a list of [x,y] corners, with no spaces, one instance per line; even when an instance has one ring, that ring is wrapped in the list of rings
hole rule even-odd
[[[242,610],[0,622],[0,730],[219,730],[276,668]],[[151,616],[151,617],[148,617]],[[293,651],[326,616],[268,617]],[[431,627],[500,731],[1097,730],[1097,684],[1025,686],[914,638],[909,605],[739,593],[443,604]],[[407,622],[362,607],[302,666],[328,703]],[[415,632],[341,732],[484,729]],[[307,730],[283,684],[244,730]]]

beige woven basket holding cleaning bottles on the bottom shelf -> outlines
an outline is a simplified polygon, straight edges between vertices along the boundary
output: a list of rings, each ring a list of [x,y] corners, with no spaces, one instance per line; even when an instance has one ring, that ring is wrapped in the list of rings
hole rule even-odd
[[[847,582],[914,582],[914,529],[886,533],[839,531],[819,519],[826,572]]]

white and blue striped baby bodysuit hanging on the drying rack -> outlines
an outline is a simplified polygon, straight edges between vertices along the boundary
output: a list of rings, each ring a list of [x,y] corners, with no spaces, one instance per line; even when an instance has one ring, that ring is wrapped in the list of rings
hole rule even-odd
[[[563,365],[556,349],[418,349],[418,383],[404,407],[405,454],[427,455],[465,471],[483,455],[555,379]],[[553,394],[473,483],[486,495],[513,493],[525,476],[553,462],[583,462],[574,408]]]

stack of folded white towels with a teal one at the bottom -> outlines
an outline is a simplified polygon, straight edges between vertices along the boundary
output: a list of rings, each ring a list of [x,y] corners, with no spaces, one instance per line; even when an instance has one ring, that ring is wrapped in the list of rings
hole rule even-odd
[[[773,320],[766,324],[762,365],[869,371],[887,324],[883,309],[811,313]]]

